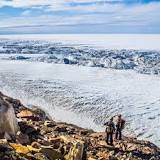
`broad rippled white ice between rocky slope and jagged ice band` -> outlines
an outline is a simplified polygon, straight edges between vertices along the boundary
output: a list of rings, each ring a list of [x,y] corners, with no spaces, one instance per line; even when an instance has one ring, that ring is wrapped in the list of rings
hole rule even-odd
[[[0,90],[52,118],[103,131],[118,113],[125,135],[160,145],[160,77],[44,62],[0,60]]]

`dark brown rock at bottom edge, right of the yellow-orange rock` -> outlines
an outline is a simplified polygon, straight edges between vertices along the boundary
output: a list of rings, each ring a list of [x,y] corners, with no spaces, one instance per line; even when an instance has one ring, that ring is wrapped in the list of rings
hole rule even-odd
[[[41,153],[43,153],[46,157],[48,157],[50,160],[56,160],[61,159],[62,155],[60,151],[53,149],[52,147],[47,146],[41,146]]]

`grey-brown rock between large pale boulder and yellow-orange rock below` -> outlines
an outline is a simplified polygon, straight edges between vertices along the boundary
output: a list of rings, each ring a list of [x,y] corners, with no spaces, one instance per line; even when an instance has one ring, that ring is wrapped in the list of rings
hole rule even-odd
[[[20,131],[17,132],[16,139],[17,139],[17,142],[20,144],[29,144],[30,143],[29,136],[27,134],[23,134]]]

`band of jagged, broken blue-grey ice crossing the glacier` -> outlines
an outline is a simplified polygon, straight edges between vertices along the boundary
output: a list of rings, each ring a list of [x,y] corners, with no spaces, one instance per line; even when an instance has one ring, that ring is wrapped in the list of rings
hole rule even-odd
[[[0,40],[6,59],[40,61],[160,74],[159,50],[100,49],[40,40]],[[31,56],[35,54],[37,56]],[[0,56],[2,57],[2,56]],[[2,57],[4,59],[4,57]]]

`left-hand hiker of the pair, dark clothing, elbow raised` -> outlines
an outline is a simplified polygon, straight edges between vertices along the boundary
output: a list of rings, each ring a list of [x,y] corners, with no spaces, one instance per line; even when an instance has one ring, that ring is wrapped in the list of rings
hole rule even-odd
[[[113,145],[113,133],[115,132],[115,124],[113,122],[113,118],[110,119],[106,125],[106,143],[108,145]]]

